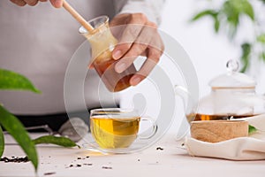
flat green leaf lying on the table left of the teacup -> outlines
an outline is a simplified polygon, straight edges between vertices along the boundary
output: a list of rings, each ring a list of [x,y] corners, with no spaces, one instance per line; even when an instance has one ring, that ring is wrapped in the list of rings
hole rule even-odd
[[[75,142],[72,142],[69,138],[63,137],[63,136],[54,136],[54,135],[44,135],[41,136],[37,139],[34,139],[33,142],[35,144],[40,144],[40,143],[52,143],[52,144],[57,144],[59,146],[63,147],[75,147],[78,146]]]

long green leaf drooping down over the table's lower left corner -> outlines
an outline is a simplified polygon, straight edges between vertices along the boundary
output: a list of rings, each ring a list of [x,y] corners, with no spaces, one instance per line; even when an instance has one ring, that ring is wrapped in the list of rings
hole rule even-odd
[[[27,154],[28,159],[33,163],[36,171],[38,168],[37,151],[24,126],[19,119],[6,111],[2,105],[0,105],[0,115],[0,124],[19,143],[19,146]]]

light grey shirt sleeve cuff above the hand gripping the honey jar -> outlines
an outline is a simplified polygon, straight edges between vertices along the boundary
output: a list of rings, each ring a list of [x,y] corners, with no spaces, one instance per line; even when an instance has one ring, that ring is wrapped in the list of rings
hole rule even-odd
[[[161,22],[161,12],[165,0],[114,0],[117,13],[144,13],[157,25]]]

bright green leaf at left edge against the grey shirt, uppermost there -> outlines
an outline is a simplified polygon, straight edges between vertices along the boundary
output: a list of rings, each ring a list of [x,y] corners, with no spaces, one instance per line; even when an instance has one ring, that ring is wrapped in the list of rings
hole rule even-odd
[[[19,89],[41,93],[25,76],[5,69],[0,69],[0,89]]]

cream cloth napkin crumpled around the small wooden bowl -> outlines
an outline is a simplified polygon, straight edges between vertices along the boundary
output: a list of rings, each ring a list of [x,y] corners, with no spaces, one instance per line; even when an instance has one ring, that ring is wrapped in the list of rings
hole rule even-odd
[[[249,137],[240,137],[223,142],[202,142],[186,138],[186,150],[191,156],[226,158],[231,160],[265,159],[265,114],[245,118],[258,129]]]

